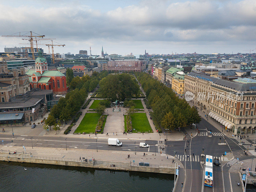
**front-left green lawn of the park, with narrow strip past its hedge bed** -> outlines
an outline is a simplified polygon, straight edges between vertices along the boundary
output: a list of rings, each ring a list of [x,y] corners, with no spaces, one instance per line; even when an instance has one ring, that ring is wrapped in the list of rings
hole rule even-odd
[[[107,117],[107,115],[105,115],[105,116]],[[100,118],[99,113],[86,113],[84,118],[82,119],[81,123],[76,128],[75,133],[83,133],[83,132],[94,133],[96,125],[98,124],[99,118]],[[106,120],[107,120],[107,118],[105,118],[101,132],[103,132]]]

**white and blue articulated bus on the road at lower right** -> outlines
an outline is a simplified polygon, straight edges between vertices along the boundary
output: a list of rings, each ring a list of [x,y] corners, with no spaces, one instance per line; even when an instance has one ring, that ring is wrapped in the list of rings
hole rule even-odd
[[[205,156],[204,185],[213,187],[213,164],[212,156]]]

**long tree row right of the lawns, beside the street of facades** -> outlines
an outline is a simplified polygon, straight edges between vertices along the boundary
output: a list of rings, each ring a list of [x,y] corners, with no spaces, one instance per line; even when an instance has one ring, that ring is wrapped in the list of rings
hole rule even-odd
[[[153,118],[164,129],[177,129],[199,123],[201,116],[185,99],[179,99],[171,88],[152,78],[147,73],[135,73],[146,92],[148,103],[153,109]]]

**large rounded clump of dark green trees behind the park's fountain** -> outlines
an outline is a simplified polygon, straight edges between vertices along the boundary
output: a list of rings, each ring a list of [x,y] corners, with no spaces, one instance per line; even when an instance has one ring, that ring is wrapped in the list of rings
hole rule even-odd
[[[139,96],[139,85],[134,76],[122,74],[109,74],[100,81],[100,95],[111,101],[124,101]]]

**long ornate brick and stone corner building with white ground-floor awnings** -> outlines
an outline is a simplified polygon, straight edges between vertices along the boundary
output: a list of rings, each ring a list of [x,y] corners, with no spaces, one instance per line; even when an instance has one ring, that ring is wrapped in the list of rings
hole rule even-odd
[[[199,110],[234,134],[254,133],[256,129],[256,80],[233,81],[191,72],[185,76],[185,92]]]

